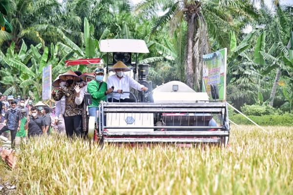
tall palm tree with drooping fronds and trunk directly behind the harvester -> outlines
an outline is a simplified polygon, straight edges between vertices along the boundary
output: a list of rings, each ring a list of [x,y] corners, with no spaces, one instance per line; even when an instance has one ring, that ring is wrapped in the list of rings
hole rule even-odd
[[[173,29],[187,22],[186,80],[192,88],[200,86],[201,56],[209,52],[208,34],[226,47],[230,31],[239,30],[233,20],[247,21],[257,16],[253,6],[242,0],[145,0],[138,4],[136,12],[154,15],[160,8],[167,13],[157,20],[153,31],[167,23]]]

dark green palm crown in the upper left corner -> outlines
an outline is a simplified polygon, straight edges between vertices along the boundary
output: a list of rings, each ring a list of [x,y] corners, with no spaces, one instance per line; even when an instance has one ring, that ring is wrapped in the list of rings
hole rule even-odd
[[[11,0],[11,10],[7,15],[13,31],[10,34],[0,32],[0,43],[6,46],[15,42],[18,51],[22,39],[29,44],[43,45],[57,42],[63,36],[58,28],[61,22],[61,6],[58,0]]]

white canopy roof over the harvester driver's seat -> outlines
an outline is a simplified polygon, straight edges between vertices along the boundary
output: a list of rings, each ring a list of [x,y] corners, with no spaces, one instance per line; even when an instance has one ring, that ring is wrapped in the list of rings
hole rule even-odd
[[[105,39],[100,41],[101,52],[149,53],[146,42],[139,39]]]

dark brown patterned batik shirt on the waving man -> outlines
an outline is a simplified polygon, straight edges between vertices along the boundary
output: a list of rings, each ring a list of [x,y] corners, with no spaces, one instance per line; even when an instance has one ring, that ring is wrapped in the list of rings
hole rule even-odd
[[[77,105],[75,103],[76,92],[74,87],[63,86],[55,95],[52,95],[55,101],[59,101],[63,96],[65,96],[65,112],[64,117],[73,117],[76,115],[83,114],[83,105]]]

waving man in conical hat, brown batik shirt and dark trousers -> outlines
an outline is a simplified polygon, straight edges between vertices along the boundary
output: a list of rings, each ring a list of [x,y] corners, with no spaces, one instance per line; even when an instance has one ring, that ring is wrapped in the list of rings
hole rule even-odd
[[[63,86],[57,93],[52,90],[52,97],[55,101],[59,101],[65,96],[64,123],[66,135],[68,137],[72,137],[73,134],[81,136],[83,106],[75,103],[76,90],[78,89],[76,82],[79,82],[80,78],[72,70],[67,71],[59,78],[66,81],[66,86]]]

